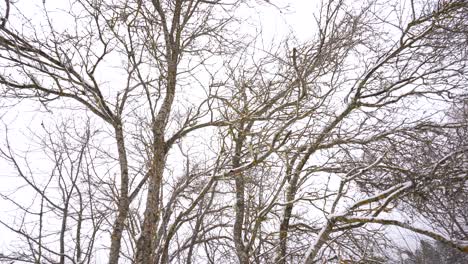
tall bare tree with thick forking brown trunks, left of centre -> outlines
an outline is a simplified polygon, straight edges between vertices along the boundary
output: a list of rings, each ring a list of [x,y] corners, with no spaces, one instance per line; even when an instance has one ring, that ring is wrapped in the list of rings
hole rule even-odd
[[[158,250],[164,243],[158,242],[161,234],[157,227],[165,220],[163,215],[170,215],[161,206],[167,154],[174,143],[192,130],[222,123],[208,115],[212,100],[208,94],[199,105],[187,105],[180,123],[173,124],[173,133],[168,134],[169,121],[177,116],[172,110],[176,90],[187,85],[183,83],[187,78],[196,82],[195,70],[210,57],[230,52],[235,43],[229,43],[225,29],[234,20],[229,13],[238,3],[75,1],[65,6],[68,11],[61,12],[63,17],[53,17],[54,3],[44,1],[42,15],[46,26],[38,28],[26,18],[27,29],[15,28],[11,22],[21,20],[21,7],[6,3],[9,8],[0,40],[4,96],[37,99],[46,109],[54,107],[59,99],[73,104],[70,107],[78,103],[83,111],[92,112],[112,127],[120,177],[109,263],[118,261],[130,203],[143,185],[148,194],[136,243],[136,261],[149,263],[162,258],[165,262],[167,253]],[[16,17],[10,15],[13,8],[17,8]],[[73,24],[61,28],[56,19],[69,19]],[[101,77],[106,67],[114,67],[113,60],[122,61],[117,74],[124,78],[108,85]],[[138,105],[146,110],[135,111]],[[131,135],[139,138],[129,142]],[[135,148],[130,150],[129,144]],[[146,155],[143,160],[134,157],[140,151]],[[129,164],[130,161],[138,163]]]

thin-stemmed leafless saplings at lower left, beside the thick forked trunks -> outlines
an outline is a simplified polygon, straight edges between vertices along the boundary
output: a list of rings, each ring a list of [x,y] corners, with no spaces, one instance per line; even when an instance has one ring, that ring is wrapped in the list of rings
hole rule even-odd
[[[4,256],[5,259],[31,263],[90,263],[93,259],[96,239],[102,235],[106,217],[111,214],[109,203],[113,201],[96,174],[101,157],[90,145],[97,132],[90,130],[89,123],[84,129],[70,125],[43,127],[45,137],[38,143],[50,160],[50,171],[44,174],[34,171],[30,153],[14,151],[8,138],[0,150],[2,158],[25,184],[16,192],[32,193],[34,197],[32,201],[22,201],[18,193],[2,194],[3,199],[17,206],[15,220],[20,224],[12,226],[3,220],[1,224],[28,246]],[[70,128],[77,133],[71,134]]]

